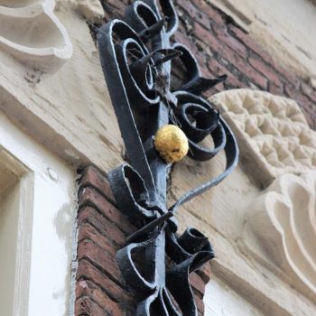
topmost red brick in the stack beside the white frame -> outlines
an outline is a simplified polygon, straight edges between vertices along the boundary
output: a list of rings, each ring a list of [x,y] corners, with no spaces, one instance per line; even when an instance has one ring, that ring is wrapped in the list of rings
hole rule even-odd
[[[107,177],[99,172],[95,167],[89,166],[82,173],[82,178],[79,181],[80,188],[93,186],[100,191],[112,203],[115,203],[115,198]]]

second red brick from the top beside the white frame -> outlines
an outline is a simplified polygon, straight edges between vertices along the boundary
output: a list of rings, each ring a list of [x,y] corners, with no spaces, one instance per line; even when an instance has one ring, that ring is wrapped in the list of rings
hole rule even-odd
[[[97,208],[108,220],[116,223],[127,234],[131,234],[137,230],[121,211],[116,209],[115,206],[92,188],[86,188],[79,192],[79,208],[86,205],[92,205]]]

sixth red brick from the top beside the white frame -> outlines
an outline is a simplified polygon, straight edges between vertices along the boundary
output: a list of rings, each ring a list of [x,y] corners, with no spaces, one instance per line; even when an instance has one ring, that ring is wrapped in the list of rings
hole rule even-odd
[[[132,295],[132,293],[126,293],[120,285],[109,279],[107,275],[99,272],[98,269],[87,260],[80,260],[76,280],[79,283],[80,280],[87,279],[101,287],[108,295],[114,297],[117,302],[133,304],[134,295]],[[80,295],[77,294],[77,297],[79,296]]]

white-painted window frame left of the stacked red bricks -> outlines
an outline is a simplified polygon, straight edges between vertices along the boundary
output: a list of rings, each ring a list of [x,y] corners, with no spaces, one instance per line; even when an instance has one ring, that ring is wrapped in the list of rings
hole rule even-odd
[[[69,315],[76,174],[1,112],[0,159],[20,182],[13,316]]]

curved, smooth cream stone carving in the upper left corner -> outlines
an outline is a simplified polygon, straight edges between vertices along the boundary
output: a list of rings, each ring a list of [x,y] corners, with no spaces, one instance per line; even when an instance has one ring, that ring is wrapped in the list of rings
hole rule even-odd
[[[0,0],[0,49],[38,70],[58,70],[72,45],[54,6],[54,0]]]

